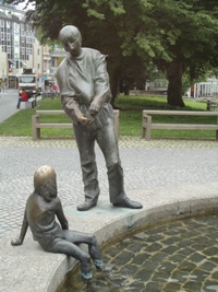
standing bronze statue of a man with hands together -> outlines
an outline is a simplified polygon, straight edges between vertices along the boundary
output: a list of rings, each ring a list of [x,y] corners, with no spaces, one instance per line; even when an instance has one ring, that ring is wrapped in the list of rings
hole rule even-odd
[[[77,210],[95,207],[100,194],[95,141],[106,160],[110,202],[114,207],[141,209],[140,202],[126,197],[123,186],[106,56],[82,47],[81,33],[73,25],[64,26],[59,38],[66,57],[57,70],[57,81],[62,107],[73,121],[84,182],[85,201],[77,206]]]

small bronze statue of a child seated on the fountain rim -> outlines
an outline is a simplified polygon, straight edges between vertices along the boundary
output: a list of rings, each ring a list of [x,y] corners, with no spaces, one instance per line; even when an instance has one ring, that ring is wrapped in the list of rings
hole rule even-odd
[[[89,233],[69,230],[68,220],[57,194],[55,170],[48,165],[39,167],[34,175],[34,191],[26,202],[20,236],[12,240],[11,244],[21,245],[29,226],[34,240],[46,252],[65,254],[76,258],[81,261],[83,279],[90,280],[93,277],[90,258],[98,270],[104,267],[96,237]],[[60,224],[56,221],[56,217]],[[89,254],[78,247],[82,243],[88,245]]]

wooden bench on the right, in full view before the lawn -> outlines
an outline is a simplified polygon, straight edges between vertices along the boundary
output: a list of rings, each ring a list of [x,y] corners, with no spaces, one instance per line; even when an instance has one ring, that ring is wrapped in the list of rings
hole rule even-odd
[[[157,124],[152,121],[153,115],[171,116],[216,116],[217,124]],[[218,140],[218,112],[187,112],[187,110],[143,110],[142,138],[152,137],[152,129],[181,129],[181,130],[215,130]]]

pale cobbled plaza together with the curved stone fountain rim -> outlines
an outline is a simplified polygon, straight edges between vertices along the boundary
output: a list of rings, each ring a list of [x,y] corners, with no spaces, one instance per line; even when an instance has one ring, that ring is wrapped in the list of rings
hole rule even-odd
[[[78,212],[76,206],[84,197],[73,140],[0,137],[0,292],[55,292],[74,262],[63,255],[41,250],[29,231],[22,246],[10,245],[20,232],[25,201],[33,190],[33,175],[40,165],[51,165],[57,172],[70,229],[95,232],[99,243],[159,220],[217,211],[217,141],[121,137],[119,143],[125,190],[144,208],[119,209],[109,203],[105,161],[96,148],[99,202],[87,212]]]

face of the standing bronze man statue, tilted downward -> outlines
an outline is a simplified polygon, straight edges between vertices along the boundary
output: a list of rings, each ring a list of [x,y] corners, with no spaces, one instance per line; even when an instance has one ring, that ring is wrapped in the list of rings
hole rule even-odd
[[[72,33],[62,40],[63,47],[73,57],[78,57],[81,55],[81,37],[76,33]]]

